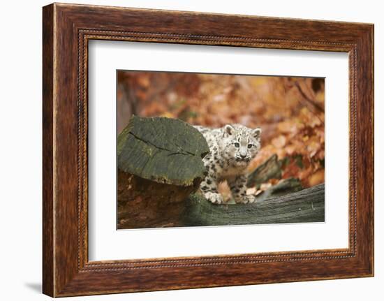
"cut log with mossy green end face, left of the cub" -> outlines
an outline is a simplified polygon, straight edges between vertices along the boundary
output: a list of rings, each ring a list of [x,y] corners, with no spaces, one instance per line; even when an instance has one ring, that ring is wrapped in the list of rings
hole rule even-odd
[[[117,140],[117,228],[179,226],[208,152],[201,133],[181,120],[133,116]]]

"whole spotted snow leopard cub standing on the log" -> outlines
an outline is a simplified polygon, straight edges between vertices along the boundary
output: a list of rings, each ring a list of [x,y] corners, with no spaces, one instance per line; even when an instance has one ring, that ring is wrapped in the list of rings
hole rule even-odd
[[[249,129],[241,124],[227,124],[219,129],[195,126],[207,140],[209,154],[202,161],[207,176],[200,184],[205,198],[222,204],[217,191],[220,182],[227,181],[236,203],[253,203],[254,196],[246,195],[246,168],[260,150],[261,129]]]

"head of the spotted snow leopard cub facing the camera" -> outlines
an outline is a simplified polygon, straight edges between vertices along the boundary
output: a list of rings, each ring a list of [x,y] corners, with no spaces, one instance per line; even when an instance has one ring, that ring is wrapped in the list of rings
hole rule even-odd
[[[223,127],[221,152],[232,166],[248,166],[260,150],[261,129],[249,129],[239,124]]]

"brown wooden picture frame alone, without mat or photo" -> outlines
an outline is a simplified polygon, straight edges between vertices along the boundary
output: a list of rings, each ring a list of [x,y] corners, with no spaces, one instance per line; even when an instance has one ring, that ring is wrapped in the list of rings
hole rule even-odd
[[[348,52],[348,249],[89,261],[87,45],[91,39]],[[372,277],[373,88],[373,24],[57,3],[45,6],[43,293],[63,297]]]

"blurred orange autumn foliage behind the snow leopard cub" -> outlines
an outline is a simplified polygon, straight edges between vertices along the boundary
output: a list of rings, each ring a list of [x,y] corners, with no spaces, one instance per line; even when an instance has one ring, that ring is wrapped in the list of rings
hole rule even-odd
[[[276,154],[282,179],[298,178],[305,188],[324,182],[324,89],[324,78],[118,71],[117,132],[133,114],[209,127],[260,127],[262,148],[249,171]]]

